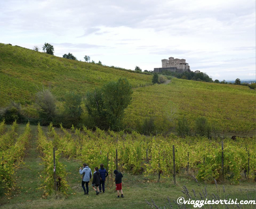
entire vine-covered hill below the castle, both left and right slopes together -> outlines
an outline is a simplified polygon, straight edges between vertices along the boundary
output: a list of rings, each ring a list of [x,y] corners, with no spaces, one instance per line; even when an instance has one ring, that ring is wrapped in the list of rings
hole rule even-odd
[[[132,103],[125,110],[125,130],[175,132],[178,119],[185,116],[193,134],[195,120],[203,116],[216,136],[255,135],[256,93],[247,86],[176,78],[166,85],[148,85],[151,75],[0,44],[0,107],[20,102],[28,115],[36,115],[35,93],[42,88],[51,88],[61,103],[67,91],[85,95],[119,77],[134,87]]]

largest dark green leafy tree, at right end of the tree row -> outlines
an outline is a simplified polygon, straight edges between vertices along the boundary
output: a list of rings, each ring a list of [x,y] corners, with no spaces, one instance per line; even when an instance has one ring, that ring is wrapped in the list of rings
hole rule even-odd
[[[131,103],[132,93],[131,85],[125,78],[88,92],[85,106],[95,125],[105,130],[119,130],[124,110]]]

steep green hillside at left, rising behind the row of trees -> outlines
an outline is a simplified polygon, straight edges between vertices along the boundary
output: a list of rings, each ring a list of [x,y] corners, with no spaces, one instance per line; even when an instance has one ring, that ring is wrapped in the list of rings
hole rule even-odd
[[[126,77],[133,87],[151,83],[152,76],[52,56],[0,43],[0,106],[29,102],[37,90],[50,87],[57,97],[66,91],[86,93]]]

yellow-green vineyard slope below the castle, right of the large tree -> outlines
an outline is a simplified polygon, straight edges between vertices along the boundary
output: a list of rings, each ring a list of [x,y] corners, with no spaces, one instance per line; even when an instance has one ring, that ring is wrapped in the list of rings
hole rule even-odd
[[[180,116],[186,116],[191,129],[195,119],[204,116],[221,136],[247,133],[255,130],[255,96],[255,90],[247,86],[172,79],[168,85],[134,90],[125,123],[138,128],[145,118],[152,118],[160,133],[177,127]]]

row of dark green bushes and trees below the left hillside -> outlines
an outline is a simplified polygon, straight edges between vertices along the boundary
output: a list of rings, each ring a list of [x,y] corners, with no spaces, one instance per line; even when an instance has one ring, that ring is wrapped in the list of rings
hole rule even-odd
[[[53,122],[59,126],[62,123],[67,128],[85,125],[102,130],[120,130],[124,110],[131,103],[132,93],[131,84],[126,78],[108,82],[102,88],[88,91],[86,95],[67,92],[62,101],[57,101],[49,89],[43,89],[35,95],[37,118],[26,117],[21,105],[12,102],[8,107],[0,109],[0,121],[4,119],[6,124],[11,124],[15,120],[18,123],[29,120],[31,124],[40,122],[41,125]]]

